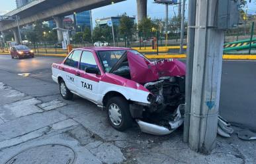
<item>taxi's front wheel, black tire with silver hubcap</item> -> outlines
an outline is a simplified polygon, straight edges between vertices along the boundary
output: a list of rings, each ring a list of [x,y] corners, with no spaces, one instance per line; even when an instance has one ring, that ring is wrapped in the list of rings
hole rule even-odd
[[[124,131],[132,126],[129,103],[123,97],[112,97],[108,99],[107,116],[111,126],[118,131]]]

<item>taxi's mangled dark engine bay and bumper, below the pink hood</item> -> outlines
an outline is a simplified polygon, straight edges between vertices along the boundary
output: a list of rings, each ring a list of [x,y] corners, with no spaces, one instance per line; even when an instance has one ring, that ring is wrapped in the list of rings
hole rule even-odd
[[[185,113],[185,78],[165,76],[144,87],[151,92],[150,103],[130,105],[132,117],[136,118],[142,132],[161,136],[179,128]]]

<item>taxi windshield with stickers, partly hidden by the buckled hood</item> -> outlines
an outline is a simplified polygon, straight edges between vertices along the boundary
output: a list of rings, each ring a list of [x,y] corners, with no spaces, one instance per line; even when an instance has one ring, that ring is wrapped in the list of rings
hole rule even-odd
[[[98,51],[99,58],[101,59],[101,63],[103,63],[105,71],[109,72],[126,51],[127,50]]]

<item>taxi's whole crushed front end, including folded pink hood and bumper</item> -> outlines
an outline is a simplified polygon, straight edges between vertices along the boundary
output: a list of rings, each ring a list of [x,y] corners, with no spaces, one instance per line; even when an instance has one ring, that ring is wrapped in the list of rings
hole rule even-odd
[[[131,116],[143,132],[165,135],[183,124],[185,70],[185,64],[176,59],[149,61],[136,51],[128,51],[112,68],[112,73],[148,90],[149,103],[130,103]]]

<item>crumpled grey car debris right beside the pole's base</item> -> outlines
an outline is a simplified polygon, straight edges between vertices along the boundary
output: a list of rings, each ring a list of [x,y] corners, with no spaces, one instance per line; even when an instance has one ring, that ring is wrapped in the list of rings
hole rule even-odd
[[[228,121],[226,121],[219,115],[217,132],[220,136],[228,138],[234,132],[234,129],[231,127],[231,124],[228,123]]]

